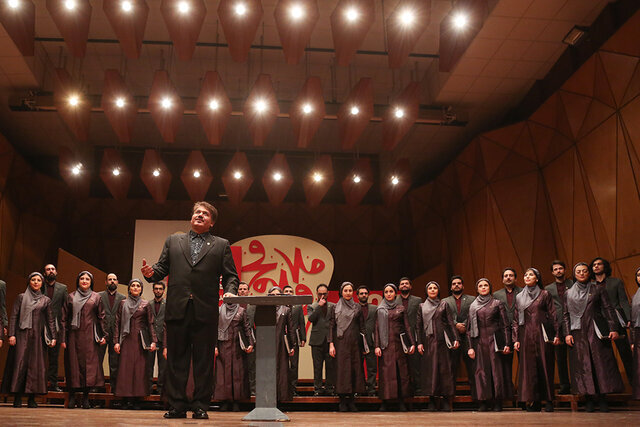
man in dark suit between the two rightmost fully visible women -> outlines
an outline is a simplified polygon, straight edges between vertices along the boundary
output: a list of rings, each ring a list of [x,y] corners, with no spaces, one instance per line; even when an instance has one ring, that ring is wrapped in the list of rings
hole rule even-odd
[[[565,277],[566,266],[563,261],[555,260],[551,263],[551,274],[553,274],[553,283],[545,286],[545,290],[551,294],[553,298],[553,305],[556,307],[556,316],[558,317],[558,324],[563,322],[563,301],[564,294],[571,286],[573,286],[573,280]],[[567,362],[567,344],[564,341],[564,334],[562,328],[558,331],[560,336],[560,345],[554,346],[556,354],[556,365],[558,366],[558,379],[560,380],[560,394],[571,393],[571,383],[569,382],[569,364]]]

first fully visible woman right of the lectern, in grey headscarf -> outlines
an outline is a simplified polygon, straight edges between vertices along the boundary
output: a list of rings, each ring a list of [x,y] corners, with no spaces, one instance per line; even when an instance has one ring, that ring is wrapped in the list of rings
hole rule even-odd
[[[330,307],[329,356],[336,359],[336,393],[340,397],[340,412],[357,412],[353,401],[355,393],[364,393],[362,371],[362,348],[360,342],[365,334],[364,318],[360,304],[353,300],[354,287],[351,282],[340,286],[340,300]]]

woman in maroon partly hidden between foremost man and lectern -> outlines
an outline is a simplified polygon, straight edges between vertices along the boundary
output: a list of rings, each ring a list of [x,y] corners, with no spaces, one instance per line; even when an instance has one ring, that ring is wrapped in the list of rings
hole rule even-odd
[[[238,400],[248,399],[249,364],[247,354],[255,345],[247,311],[240,304],[224,303],[218,310],[218,345],[216,346],[215,400],[223,401],[222,411],[230,403],[234,412],[240,410]],[[241,347],[244,346],[244,350]]]

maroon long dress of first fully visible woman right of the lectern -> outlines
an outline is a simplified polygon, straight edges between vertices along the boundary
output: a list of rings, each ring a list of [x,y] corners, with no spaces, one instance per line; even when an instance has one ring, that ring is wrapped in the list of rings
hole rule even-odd
[[[338,337],[336,324],[336,306],[329,307],[329,330],[327,342],[333,343],[336,349],[336,393],[364,393],[364,372],[362,371],[362,350],[360,334],[365,334],[362,310],[354,316],[346,328],[342,338]]]

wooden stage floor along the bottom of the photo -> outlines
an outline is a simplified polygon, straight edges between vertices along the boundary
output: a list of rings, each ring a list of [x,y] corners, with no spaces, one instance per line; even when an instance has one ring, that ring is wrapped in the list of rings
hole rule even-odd
[[[12,408],[0,405],[0,425],[67,425],[96,426],[109,425],[182,425],[182,424],[216,424],[225,426],[277,426],[279,423],[243,422],[243,412],[210,411],[209,420],[167,421],[162,418],[162,411],[123,411],[113,409],[64,409],[59,407],[40,407],[36,409]],[[190,415],[190,414],[189,414]],[[640,411],[613,411],[610,413],[574,412],[559,410],[553,413],[526,413],[520,410],[507,409],[501,413],[479,413],[471,411],[456,412],[288,412],[291,423],[300,425],[335,426],[398,426],[398,425],[580,425],[580,426],[626,426],[640,425]]]

